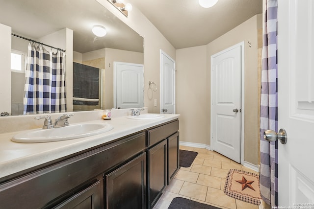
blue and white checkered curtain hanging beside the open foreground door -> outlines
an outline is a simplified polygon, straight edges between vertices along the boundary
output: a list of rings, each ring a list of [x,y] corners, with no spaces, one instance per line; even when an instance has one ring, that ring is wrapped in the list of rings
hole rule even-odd
[[[267,129],[278,132],[277,98],[277,0],[266,0],[262,47],[262,95],[261,95],[261,170],[262,200],[278,206],[278,152],[277,140],[263,139]]]

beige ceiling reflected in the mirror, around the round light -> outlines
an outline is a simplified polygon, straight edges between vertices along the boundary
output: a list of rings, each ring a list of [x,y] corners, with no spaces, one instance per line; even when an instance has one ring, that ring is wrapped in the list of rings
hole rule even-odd
[[[0,5],[0,23],[28,39],[70,28],[73,49],[80,53],[105,47],[143,52],[143,37],[96,0],[0,0]],[[106,36],[92,34],[96,24],[105,26]]]

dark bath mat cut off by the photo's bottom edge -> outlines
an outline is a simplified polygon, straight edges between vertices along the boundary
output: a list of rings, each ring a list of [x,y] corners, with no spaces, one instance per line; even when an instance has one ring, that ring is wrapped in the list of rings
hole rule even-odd
[[[182,197],[176,197],[171,201],[168,209],[219,209],[204,203],[188,200]]]

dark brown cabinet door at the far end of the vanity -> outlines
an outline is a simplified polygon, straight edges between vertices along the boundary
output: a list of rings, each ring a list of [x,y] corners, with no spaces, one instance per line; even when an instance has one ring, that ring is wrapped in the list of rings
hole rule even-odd
[[[167,185],[179,170],[179,132],[167,138],[168,140],[168,172]]]

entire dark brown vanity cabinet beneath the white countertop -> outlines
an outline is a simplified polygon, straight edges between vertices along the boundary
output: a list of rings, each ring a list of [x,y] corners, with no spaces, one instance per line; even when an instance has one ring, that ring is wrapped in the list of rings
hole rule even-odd
[[[151,209],[179,168],[179,120],[0,179],[0,209]]]

